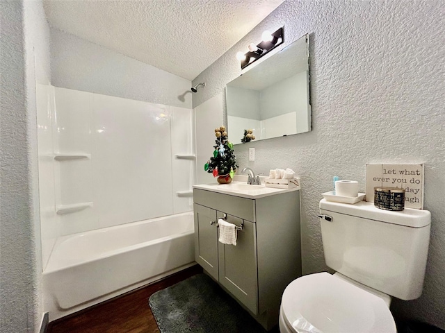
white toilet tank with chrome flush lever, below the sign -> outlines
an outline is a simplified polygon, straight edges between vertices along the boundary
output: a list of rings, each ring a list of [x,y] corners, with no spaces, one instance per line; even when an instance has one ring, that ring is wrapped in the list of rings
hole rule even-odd
[[[327,216],[320,219],[327,266],[402,300],[421,296],[430,242],[428,210],[390,212],[365,201],[349,205],[323,199],[320,214]]]

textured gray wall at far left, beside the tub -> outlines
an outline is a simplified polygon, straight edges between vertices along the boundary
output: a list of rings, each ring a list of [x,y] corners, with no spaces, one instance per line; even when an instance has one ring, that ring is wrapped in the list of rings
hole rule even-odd
[[[36,332],[42,320],[35,121],[35,58],[49,78],[41,1],[0,1],[1,332]],[[35,52],[34,52],[35,51]]]

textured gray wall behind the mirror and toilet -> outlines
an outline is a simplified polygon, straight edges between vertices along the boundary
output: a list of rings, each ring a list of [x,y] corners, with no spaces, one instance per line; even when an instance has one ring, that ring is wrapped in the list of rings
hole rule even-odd
[[[425,163],[432,228],[423,295],[394,300],[391,309],[442,329],[444,10],[443,1],[286,1],[193,81],[206,83],[193,96],[193,104],[200,105],[238,76],[236,52],[259,42],[266,28],[284,26],[286,44],[309,33],[312,132],[235,146],[238,164],[257,173],[290,167],[302,178],[307,274],[326,269],[316,212],[321,193],[332,189],[332,176],[358,180],[363,191],[366,163]],[[249,147],[256,148],[255,162],[248,162]]]

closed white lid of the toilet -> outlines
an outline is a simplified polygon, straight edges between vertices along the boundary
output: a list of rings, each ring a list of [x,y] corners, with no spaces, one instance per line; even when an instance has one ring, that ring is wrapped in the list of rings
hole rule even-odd
[[[291,282],[283,293],[282,314],[295,332],[397,332],[381,298],[326,272]]]

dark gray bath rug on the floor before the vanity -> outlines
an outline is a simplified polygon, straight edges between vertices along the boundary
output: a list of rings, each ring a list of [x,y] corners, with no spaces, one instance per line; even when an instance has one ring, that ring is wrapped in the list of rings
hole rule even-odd
[[[161,333],[264,333],[238,303],[207,275],[194,275],[149,298]]]

